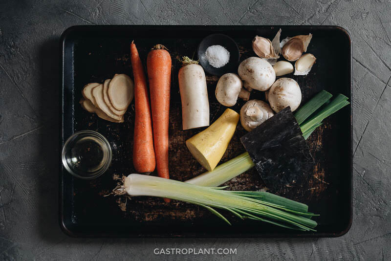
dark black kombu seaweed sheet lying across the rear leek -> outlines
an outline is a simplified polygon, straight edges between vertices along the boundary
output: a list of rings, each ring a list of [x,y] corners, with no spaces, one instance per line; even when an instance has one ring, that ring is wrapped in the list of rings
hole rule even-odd
[[[271,193],[299,196],[308,188],[313,158],[287,107],[240,138]]]

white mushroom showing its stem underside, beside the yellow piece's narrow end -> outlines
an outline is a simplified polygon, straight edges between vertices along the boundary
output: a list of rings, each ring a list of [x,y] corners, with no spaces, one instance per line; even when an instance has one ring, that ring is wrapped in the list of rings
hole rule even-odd
[[[273,115],[274,112],[267,103],[251,100],[240,109],[240,123],[246,131],[252,131]]]

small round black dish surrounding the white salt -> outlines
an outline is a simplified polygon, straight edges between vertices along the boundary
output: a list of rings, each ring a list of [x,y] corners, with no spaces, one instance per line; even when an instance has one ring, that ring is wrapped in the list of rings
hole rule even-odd
[[[209,64],[208,60],[205,58],[206,49],[211,45],[221,45],[225,47],[230,53],[229,61],[226,65],[216,68]],[[200,65],[204,70],[210,74],[221,76],[227,72],[236,72],[238,71],[239,65],[239,47],[235,41],[225,35],[225,34],[211,34],[204,39],[198,45],[198,59]]]

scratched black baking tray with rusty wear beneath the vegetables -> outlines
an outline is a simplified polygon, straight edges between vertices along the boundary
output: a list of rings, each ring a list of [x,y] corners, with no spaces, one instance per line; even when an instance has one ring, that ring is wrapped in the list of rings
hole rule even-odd
[[[251,40],[255,35],[269,39],[279,28],[286,36],[312,33],[307,52],[315,55],[317,63],[307,76],[295,79],[303,92],[303,102],[322,89],[332,94],[343,93],[350,98],[350,40],[346,32],[331,26],[78,26],[68,29],[62,38],[63,84],[60,143],[75,131],[94,130],[105,135],[113,148],[109,171],[93,180],[73,178],[60,170],[60,224],[72,236],[204,236],[204,237],[326,237],[344,234],[351,223],[351,108],[344,108],[324,121],[307,142],[315,159],[309,186],[287,197],[309,205],[320,214],[317,232],[302,233],[285,230],[267,223],[238,220],[221,211],[231,222],[225,222],[202,207],[172,200],[164,203],[154,197],[113,197],[109,194],[116,185],[113,175],[134,173],[132,166],[132,137],[134,102],[125,114],[125,122],[116,124],[88,113],[79,105],[81,90],[90,82],[102,83],[115,73],[133,78],[129,45],[135,40],[143,65],[150,48],[164,44],[173,61],[170,107],[170,176],[187,180],[205,170],[185,146],[185,140],[202,129],[182,131],[181,103],[177,74],[177,56],[196,57],[198,43],[212,33],[224,33],[239,45],[240,61],[254,56]],[[331,48],[330,46],[339,46]],[[226,109],[215,98],[218,78],[207,74],[210,101],[210,121],[214,122]],[[263,99],[261,93],[251,98]],[[239,112],[244,104],[239,100],[231,109]],[[231,159],[244,148],[239,138],[245,134],[240,123],[221,162]],[[155,173],[153,173],[155,175]],[[264,187],[255,169],[225,183],[230,190],[256,191]]]

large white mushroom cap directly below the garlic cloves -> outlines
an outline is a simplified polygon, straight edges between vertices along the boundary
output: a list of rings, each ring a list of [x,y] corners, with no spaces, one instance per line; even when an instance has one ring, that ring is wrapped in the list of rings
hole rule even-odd
[[[245,87],[261,91],[268,90],[276,80],[273,66],[259,57],[250,57],[241,62],[238,73]]]

